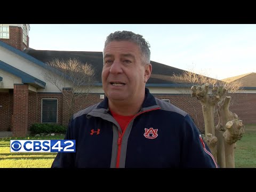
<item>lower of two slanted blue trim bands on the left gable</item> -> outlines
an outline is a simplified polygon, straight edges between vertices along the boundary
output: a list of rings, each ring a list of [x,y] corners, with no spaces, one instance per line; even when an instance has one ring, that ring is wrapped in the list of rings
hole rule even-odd
[[[4,71],[7,71],[15,76],[18,76],[21,78],[22,83],[30,83],[33,84],[35,87],[41,87],[45,88],[46,83],[39,80],[38,78],[31,76],[25,72],[23,72],[20,69],[17,69],[15,67],[12,67],[11,65],[3,62],[0,60],[0,69],[3,69]]]

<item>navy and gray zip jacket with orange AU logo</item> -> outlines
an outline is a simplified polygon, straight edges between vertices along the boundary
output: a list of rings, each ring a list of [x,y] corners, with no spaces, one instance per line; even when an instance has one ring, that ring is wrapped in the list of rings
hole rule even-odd
[[[52,167],[218,167],[190,116],[147,88],[123,133],[105,97],[73,116],[65,139],[76,153],[58,153]]]

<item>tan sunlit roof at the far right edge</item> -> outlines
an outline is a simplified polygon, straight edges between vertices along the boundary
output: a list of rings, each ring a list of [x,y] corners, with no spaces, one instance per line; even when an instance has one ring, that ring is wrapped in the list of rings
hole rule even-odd
[[[243,75],[238,75],[235,77],[228,77],[221,79],[225,82],[236,82],[239,81],[242,83],[243,87],[256,87],[256,73],[247,73]]]

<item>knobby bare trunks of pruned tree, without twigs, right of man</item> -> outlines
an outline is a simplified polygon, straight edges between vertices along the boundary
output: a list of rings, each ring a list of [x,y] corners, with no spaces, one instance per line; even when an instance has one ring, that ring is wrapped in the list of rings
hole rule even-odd
[[[242,138],[244,125],[235,113],[229,111],[231,97],[225,97],[224,86],[213,87],[209,92],[209,84],[193,85],[191,96],[197,97],[202,104],[205,135],[204,140],[220,167],[235,167],[234,148],[237,140]],[[214,106],[218,102],[219,123],[214,129]],[[218,148],[217,148],[218,146]]]

